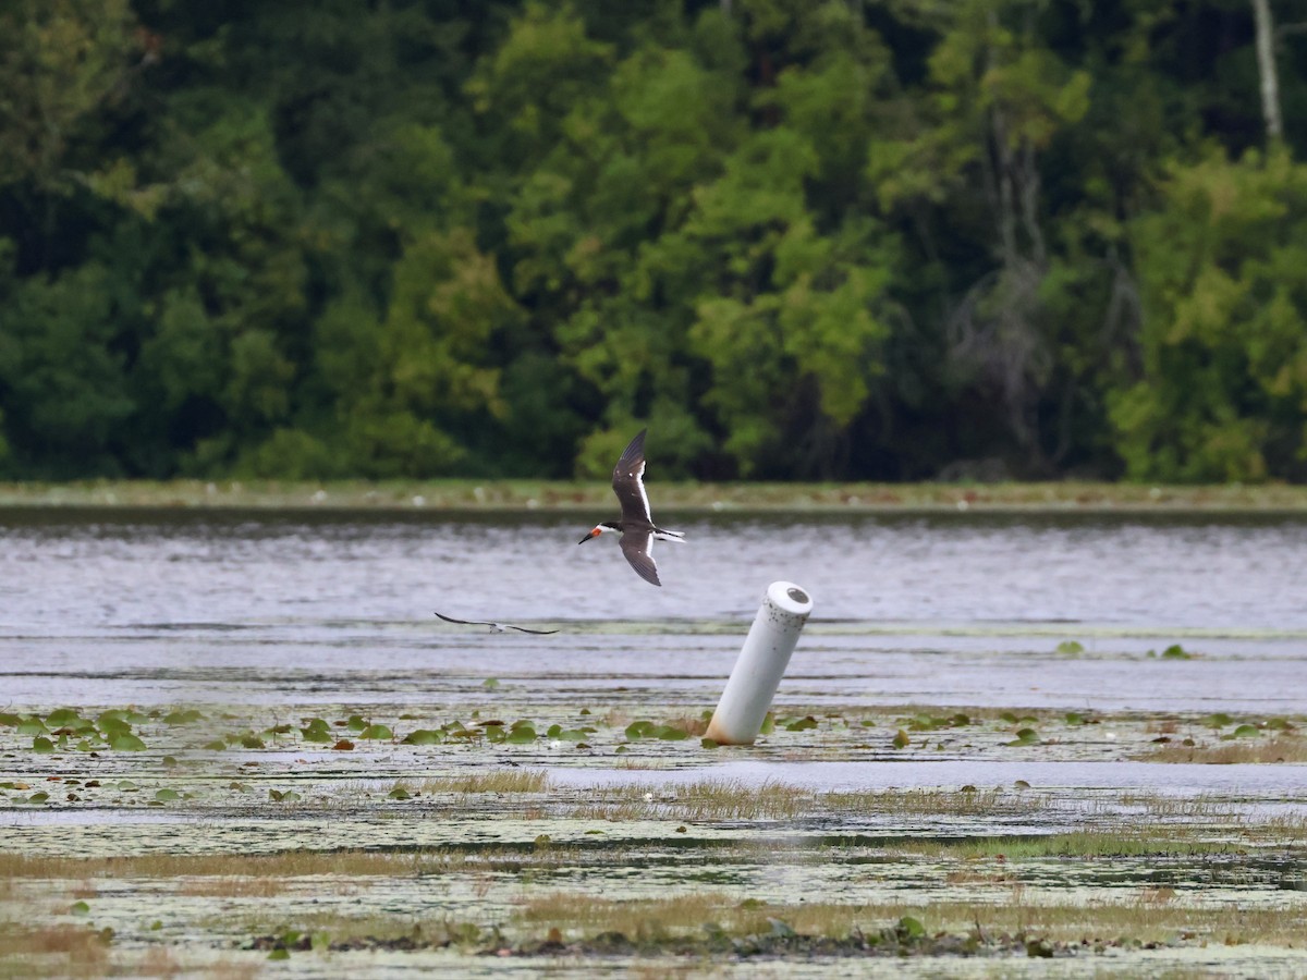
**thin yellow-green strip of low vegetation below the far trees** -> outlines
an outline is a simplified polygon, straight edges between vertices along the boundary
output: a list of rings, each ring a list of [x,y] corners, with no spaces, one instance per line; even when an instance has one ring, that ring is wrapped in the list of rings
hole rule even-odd
[[[660,511],[1307,514],[1307,486],[1146,483],[648,483]],[[603,482],[86,481],[0,483],[0,510],[186,508],[576,511],[614,507]]]

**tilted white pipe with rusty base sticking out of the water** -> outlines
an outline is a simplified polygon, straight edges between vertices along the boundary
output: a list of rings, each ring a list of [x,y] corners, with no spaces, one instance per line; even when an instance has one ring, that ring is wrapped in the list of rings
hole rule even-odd
[[[718,710],[712,712],[704,733],[708,738],[718,745],[753,745],[812,610],[812,597],[792,581],[774,581],[767,587]]]

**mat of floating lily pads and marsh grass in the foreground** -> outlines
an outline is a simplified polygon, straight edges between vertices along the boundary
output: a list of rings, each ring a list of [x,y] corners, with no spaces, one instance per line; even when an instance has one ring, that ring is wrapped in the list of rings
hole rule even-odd
[[[272,955],[312,972],[328,960],[299,960],[327,954],[332,970],[366,972],[356,953],[405,954],[397,963],[414,970],[525,956],[537,959],[521,967],[537,972],[558,968],[550,958],[572,967],[586,956],[618,971],[674,970],[685,960],[673,955],[708,970],[754,956],[878,955],[1077,956],[1093,970],[1108,951],[1114,967],[1131,968],[1149,943],[1161,953],[1204,942],[1297,955],[1307,801],[1077,794],[1022,767],[1077,758],[1080,746],[1089,747],[1080,758],[1234,762],[1253,757],[1222,753],[1272,750],[1304,760],[1298,716],[789,707],[761,745],[710,757],[698,706],[549,710],[516,698],[478,690],[473,703],[404,713],[359,703],[0,716],[0,747],[17,763],[0,781],[0,808],[22,808],[18,827],[94,808],[85,823],[0,853],[0,902],[46,902],[82,928],[0,936],[0,962],[25,976],[184,972],[184,959],[158,968],[141,959],[141,950],[186,950],[179,936],[204,937],[250,972]],[[114,753],[110,740],[124,736],[146,747]],[[37,738],[54,751],[27,751]],[[84,740],[97,758],[74,751]],[[1014,753],[1013,741],[1025,747]],[[200,750],[212,742],[225,753]],[[921,759],[940,743],[1006,766],[1002,785],[915,785],[931,779]],[[748,771],[750,759],[814,758],[893,759],[906,785],[833,791],[712,775]],[[610,771],[574,785],[546,764]],[[699,764],[712,770],[684,772]],[[124,847],[98,823],[116,819],[115,808],[142,817],[154,808],[149,819],[169,828],[145,844],[157,852],[131,853],[145,836]],[[136,891],[152,912],[128,921],[119,902]],[[85,912],[72,911],[78,902]],[[105,938],[106,921],[122,941]],[[31,953],[37,942],[88,939],[98,946],[86,968]],[[1293,975],[1307,959],[1272,962],[1290,962],[1282,972]]]

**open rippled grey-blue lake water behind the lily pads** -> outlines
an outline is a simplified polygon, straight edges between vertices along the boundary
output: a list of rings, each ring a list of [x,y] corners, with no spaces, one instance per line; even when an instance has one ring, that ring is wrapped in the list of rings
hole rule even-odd
[[[612,538],[578,546],[608,516],[3,511],[0,706],[403,703],[488,677],[711,706],[784,579],[814,598],[797,702],[1307,711],[1303,517],[660,514],[687,541],[657,546],[654,588]],[[1149,656],[1175,643],[1195,657]]]

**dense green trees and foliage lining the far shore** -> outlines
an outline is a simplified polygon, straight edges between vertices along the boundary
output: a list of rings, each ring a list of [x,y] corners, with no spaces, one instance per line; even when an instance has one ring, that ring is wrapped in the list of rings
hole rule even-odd
[[[0,477],[1307,478],[1255,26],[0,0]]]

